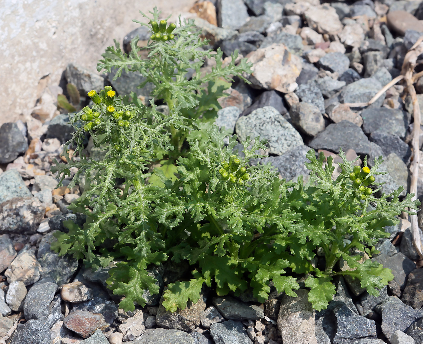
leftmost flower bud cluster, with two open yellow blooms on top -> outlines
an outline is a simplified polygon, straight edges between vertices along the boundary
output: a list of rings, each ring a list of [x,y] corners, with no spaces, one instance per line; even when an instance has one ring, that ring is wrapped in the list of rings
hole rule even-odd
[[[83,114],[81,119],[84,122],[88,122],[84,125],[85,131],[90,131],[99,125],[102,120],[100,118],[100,112],[95,111],[95,109],[104,112],[106,115],[111,116],[117,121],[119,127],[129,127],[129,121],[132,118],[135,118],[136,113],[134,110],[126,111],[116,111],[115,102],[116,92],[113,91],[111,86],[104,86],[104,90],[100,91],[100,94],[97,94],[96,91],[91,90],[88,92],[88,96],[91,98],[95,104],[93,109],[89,106],[86,106],[82,109]],[[94,112],[95,111],[95,112]]]

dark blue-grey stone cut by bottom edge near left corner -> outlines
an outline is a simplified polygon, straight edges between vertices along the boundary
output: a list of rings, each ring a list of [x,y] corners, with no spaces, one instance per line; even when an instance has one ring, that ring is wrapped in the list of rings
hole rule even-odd
[[[19,324],[10,344],[50,343],[50,325],[44,320],[31,319]]]

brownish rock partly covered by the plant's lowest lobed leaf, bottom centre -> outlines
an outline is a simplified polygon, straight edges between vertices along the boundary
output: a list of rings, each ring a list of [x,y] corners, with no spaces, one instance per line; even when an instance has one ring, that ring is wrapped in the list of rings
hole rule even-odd
[[[156,323],[160,327],[168,329],[191,332],[195,327],[200,325],[201,314],[203,314],[203,311],[206,309],[206,303],[204,303],[202,297],[200,297],[196,303],[188,301],[185,309],[178,309],[174,313],[166,311],[162,302],[163,298],[160,300],[159,310],[156,315]]]

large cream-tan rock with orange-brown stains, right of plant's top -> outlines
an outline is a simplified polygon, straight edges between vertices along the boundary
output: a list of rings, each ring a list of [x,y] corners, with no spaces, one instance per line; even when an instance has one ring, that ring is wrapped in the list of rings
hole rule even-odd
[[[249,54],[250,55],[250,54]],[[272,44],[252,52],[248,61],[253,63],[248,80],[258,88],[289,93],[297,88],[295,80],[302,69],[301,58],[291,54],[283,44]]]

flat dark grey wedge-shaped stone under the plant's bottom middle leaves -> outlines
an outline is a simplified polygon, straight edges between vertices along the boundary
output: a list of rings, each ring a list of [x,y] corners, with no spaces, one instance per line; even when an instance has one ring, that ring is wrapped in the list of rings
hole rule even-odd
[[[249,305],[232,297],[213,297],[213,304],[226,319],[258,320],[264,318],[263,309],[260,307]]]

